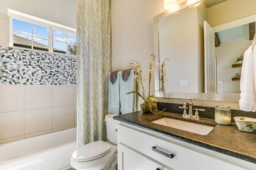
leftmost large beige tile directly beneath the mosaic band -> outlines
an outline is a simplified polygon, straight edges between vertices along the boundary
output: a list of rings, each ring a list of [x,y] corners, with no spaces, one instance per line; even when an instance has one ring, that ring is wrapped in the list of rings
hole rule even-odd
[[[24,110],[24,86],[0,86],[0,112]]]

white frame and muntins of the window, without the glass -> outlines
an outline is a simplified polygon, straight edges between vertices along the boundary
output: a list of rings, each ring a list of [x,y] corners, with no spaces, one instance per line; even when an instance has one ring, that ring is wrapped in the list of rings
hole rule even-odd
[[[55,23],[52,21],[48,21],[48,20],[45,20],[45,19],[42,19],[42,18],[39,18],[36,16],[32,16],[32,15],[25,14],[25,13],[22,13],[22,12],[19,12],[16,10],[12,10],[12,9],[8,9],[8,15],[10,16],[10,46],[11,47],[14,47],[13,46],[13,33],[15,33],[15,32],[13,32],[13,19],[16,19],[16,20],[21,20],[21,21],[32,23],[32,24],[37,24],[37,25],[42,25],[44,27],[48,27],[48,29],[49,29],[49,31],[48,31],[48,37],[49,37],[48,38],[48,52],[49,53],[64,54],[64,53],[58,53],[58,52],[53,51],[53,30],[58,29],[60,31],[66,32],[66,54],[65,55],[76,56],[76,55],[68,54],[68,44],[72,44],[72,43],[67,42],[68,41],[68,39],[67,39],[68,33],[77,35],[75,28],[68,27],[66,25],[62,25],[62,24]],[[31,35],[31,37],[33,40],[33,37],[34,37],[33,33]],[[32,41],[32,47],[33,47],[33,42],[34,41]],[[35,49],[32,49],[32,50],[35,50]]]

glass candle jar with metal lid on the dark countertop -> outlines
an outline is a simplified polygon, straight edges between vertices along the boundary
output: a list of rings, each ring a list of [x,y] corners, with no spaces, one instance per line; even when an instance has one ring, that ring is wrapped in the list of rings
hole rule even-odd
[[[215,107],[215,122],[220,125],[231,124],[231,109],[229,106]]]

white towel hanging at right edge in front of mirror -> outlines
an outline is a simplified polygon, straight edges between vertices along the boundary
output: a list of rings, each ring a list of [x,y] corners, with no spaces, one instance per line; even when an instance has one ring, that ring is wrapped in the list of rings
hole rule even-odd
[[[241,71],[241,79],[240,79],[240,100],[239,100],[239,106],[240,109],[243,111],[253,111],[255,112],[255,88],[254,88],[254,82],[256,76],[255,69],[253,67],[256,67],[254,63],[256,62],[256,59],[254,60],[254,56],[256,55],[256,48],[254,49],[255,52],[252,50],[252,46],[250,46],[244,53],[244,61],[242,64],[242,71]],[[256,57],[256,56],[255,56]]]

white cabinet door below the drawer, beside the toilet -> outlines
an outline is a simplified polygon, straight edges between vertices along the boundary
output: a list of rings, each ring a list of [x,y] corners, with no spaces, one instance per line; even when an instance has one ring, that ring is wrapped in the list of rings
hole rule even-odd
[[[122,144],[118,144],[118,170],[164,170],[163,166],[149,160]]]

